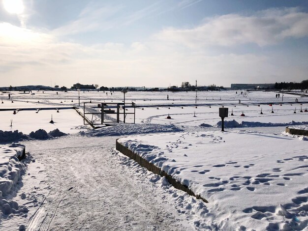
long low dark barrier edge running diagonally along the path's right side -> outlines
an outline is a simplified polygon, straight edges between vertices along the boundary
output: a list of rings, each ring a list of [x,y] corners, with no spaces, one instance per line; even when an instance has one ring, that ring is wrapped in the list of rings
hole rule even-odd
[[[195,195],[190,189],[188,189],[188,187],[186,185],[181,184],[181,182],[179,182],[176,179],[174,179],[168,173],[162,171],[160,168],[158,168],[154,164],[150,163],[146,159],[144,159],[141,156],[137,155],[136,153],[132,152],[127,147],[125,147],[122,144],[120,144],[118,142],[118,140],[116,141],[116,149],[118,151],[120,151],[122,154],[124,154],[125,156],[128,156],[130,159],[136,161],[139,165],[141,165],[142,167],[146,168],[147,170],[149,170],[149,171],[151,171],[151,172],[153,172],[153,173],[155,173],[157,175],[165,176],[166,179],[169,181],[169,183],[172,184],[172,186],[175,187],[176,189],[180,189],[180,190],[188,193],[190,196],[194,196],[197,199],[201,199],[202,201],[208,203],[208,201],[205,200],[204,198],[202,198],[201,196]]]

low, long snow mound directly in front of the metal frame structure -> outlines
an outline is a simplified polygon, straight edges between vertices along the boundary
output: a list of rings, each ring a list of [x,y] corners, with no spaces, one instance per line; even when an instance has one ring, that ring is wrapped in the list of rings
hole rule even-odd
[[[183,130],[173,124],[119,124],[87,132],[80,132],[80,134],[85,136],[123,136],[133,134],[181,131]]]

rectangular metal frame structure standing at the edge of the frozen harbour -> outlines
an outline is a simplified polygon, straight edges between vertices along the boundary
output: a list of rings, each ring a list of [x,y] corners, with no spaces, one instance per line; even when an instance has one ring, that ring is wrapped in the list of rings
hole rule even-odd
[[[100,112],[97,113],[87,113],[86,112],[86,104],[96,104],[97,108],[100,110]],[[110,106],[112,105],[112,106]],[[101,122],[100,123],[91,123],[92,125],[97,125],[97,124],[103,124],[103,123],[114,123],[113,121],[105,121],[104,120],[104,115],[117,115],[117,123],[120,123],[120,115],[123,115],[123,121],[125,121],[125,117],[126,115],[134,115],[134,123],[135,123],[135,119],[136,119],[136,104],[134,103],[133,105],[130,104],[131,106],[125,106],[127,104],[124,103],[106,103],[106,102],[84,102],[84,125],[86,124],[90,124],[90,120],[87,121],[86,119],[86,115],[92,115],[92,119],[93,119],[93,115],[101,115]],[[123,112],[120,112],[120,108],[123,108]],[[108,110],[106,109],[106,107],[108,107]],[[134,112],[133,113],[127,113],[124,110],[126,110],[126,108],[133,108]],[[114,109],[114,110],[113,110]],[[109,112],[110,111],[110,112]],[[86,123],[87,122],[87,123]]]

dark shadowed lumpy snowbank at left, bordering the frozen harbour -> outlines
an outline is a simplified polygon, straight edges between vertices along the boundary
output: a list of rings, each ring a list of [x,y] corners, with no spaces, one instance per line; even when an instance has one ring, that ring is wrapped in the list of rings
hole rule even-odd
[[[44,129],[38,129],[35,132],[31,132],[29,135],[18,132],[18,130],[15,130],[14,132],[0,130],[0,143],[7,144],[23,140],[48,140],[54,137],[61,137],[65,135],[67,134],[59,131],[58,128],[50,131],[49,133],[47,133]]]

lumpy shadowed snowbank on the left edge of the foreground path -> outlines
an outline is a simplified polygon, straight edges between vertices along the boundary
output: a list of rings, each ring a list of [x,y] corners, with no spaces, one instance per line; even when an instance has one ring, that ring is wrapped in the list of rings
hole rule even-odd
[[[17,182],[24,172],[25,166],[18,160],[24,151],[23,144],[0,146],[0,219],[12,213],[23,216],[28,212],[26,206],[19,206],[17,202],[7,199],[16,191]]]

